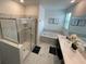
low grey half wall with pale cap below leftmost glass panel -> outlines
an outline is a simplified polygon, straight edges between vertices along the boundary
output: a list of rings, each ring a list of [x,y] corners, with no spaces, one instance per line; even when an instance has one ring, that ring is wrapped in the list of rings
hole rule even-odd
[[[17,44],[0,39],[1,64],[24,64],[26,56],[30,52],[30,44]]]

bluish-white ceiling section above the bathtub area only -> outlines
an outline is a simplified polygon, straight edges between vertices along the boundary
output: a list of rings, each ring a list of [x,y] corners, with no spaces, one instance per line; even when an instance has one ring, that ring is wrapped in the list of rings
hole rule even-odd
[[[62,10],[70,5],[70,0],[41,0],[40,3],[45,7],[45,9]]]

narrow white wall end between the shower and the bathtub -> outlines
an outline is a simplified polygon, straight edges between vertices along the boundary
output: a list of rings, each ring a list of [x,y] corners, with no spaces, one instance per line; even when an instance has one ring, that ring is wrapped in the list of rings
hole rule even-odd
[[[40,43],[40,35],[45,27],[45,9],[39,4],[38,25],[37,25],[37,43]]]

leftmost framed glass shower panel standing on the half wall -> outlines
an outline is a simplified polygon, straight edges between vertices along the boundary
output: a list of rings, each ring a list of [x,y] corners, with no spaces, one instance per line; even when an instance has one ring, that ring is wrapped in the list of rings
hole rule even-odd
[[[2,29],[2,38],[17,43],[19,41],[17,41],[16,20],[2,18],[0,20],[0,22]]]

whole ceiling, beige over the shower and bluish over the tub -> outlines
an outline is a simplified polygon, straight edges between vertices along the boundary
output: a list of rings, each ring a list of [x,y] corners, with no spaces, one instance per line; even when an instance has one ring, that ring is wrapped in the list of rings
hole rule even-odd
[[[20,1],[20,0],[15,0]],[[24,4],[42,4],[45,9],[51,9],[51,10],[62,10],[66,9],[71,5],[71,0],[25,0]]]

